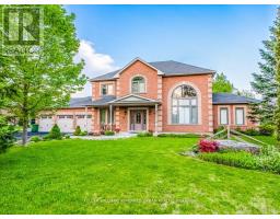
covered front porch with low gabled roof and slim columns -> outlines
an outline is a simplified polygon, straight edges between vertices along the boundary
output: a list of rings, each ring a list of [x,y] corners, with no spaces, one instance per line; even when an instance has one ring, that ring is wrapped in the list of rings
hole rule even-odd
[[[100,132],[161,131],[161,103],[156,100],[129,95],[97,108]]]

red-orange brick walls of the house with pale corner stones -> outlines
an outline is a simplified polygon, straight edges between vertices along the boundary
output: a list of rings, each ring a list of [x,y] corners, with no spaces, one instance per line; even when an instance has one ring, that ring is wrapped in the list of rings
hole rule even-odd
[[[189,76],[163,76],[161,71],[150,65],[136,60],[122,69],[117,76],[109,80],[92,81],[92,100],[102,99],[102,84],[113,84],[113,93],[116,99],[131,94],[131,80],[135,77],[142,77],[145,81],[145,89],[138,96],[148,97],[159,102],[154,105],[116,105],[114,106],[114,125],[120,131],[130,130],[130,111],[142,110],[147,112],[147,130],[158,132],[212,132],[220,125],[219,108],[228,107],[230,113],[230,125],[236,127],[235,107],[244,107],[245,114],[248,114],[247,104],[243,105],[213,105],[212,100],[212,72]],[[174,89],[179,85],[187,84],[195,89],[197,93],[197,112],[198,123],[196,125],[174,125],[171,120],[171,96]],[[89,107],[88,114],[92,115],[91,132],[100,132],[101,130],[101,108],[106,110],[106,116],[109,115],[109,107],[95,106]],[[158,111],[155,112],[155,108]],[[83,112],[85,108],[61,108],[56,114],[75,114]],[[156,117],[155,117],[156,116]],[[56,116],[54,117],[56,122]],[[107,119],[106,119],[107,120]],[[254,127],[256,124],[245,118],[245,124],[240,126],[242,129]]]

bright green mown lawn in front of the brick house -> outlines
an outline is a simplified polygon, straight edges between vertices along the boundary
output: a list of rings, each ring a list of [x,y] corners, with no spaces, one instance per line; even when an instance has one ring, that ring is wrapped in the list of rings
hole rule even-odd
[[[0,155],[0,214],[280,214],[280,175],[178,155],[196,138],[62,140]]]

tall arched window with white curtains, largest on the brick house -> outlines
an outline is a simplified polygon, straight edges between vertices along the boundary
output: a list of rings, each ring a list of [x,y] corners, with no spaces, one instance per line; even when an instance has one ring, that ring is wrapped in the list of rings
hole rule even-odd
[[[197,124],[197,92],[190,85],[179,85],[172,93],[172,124]]]

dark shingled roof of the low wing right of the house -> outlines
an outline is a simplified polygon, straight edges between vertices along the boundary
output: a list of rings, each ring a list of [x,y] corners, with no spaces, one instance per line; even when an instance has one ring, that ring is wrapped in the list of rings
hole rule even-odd
[[[233,93],[213,93],[213,104],[259,103],[259,100],[236,95]]]

